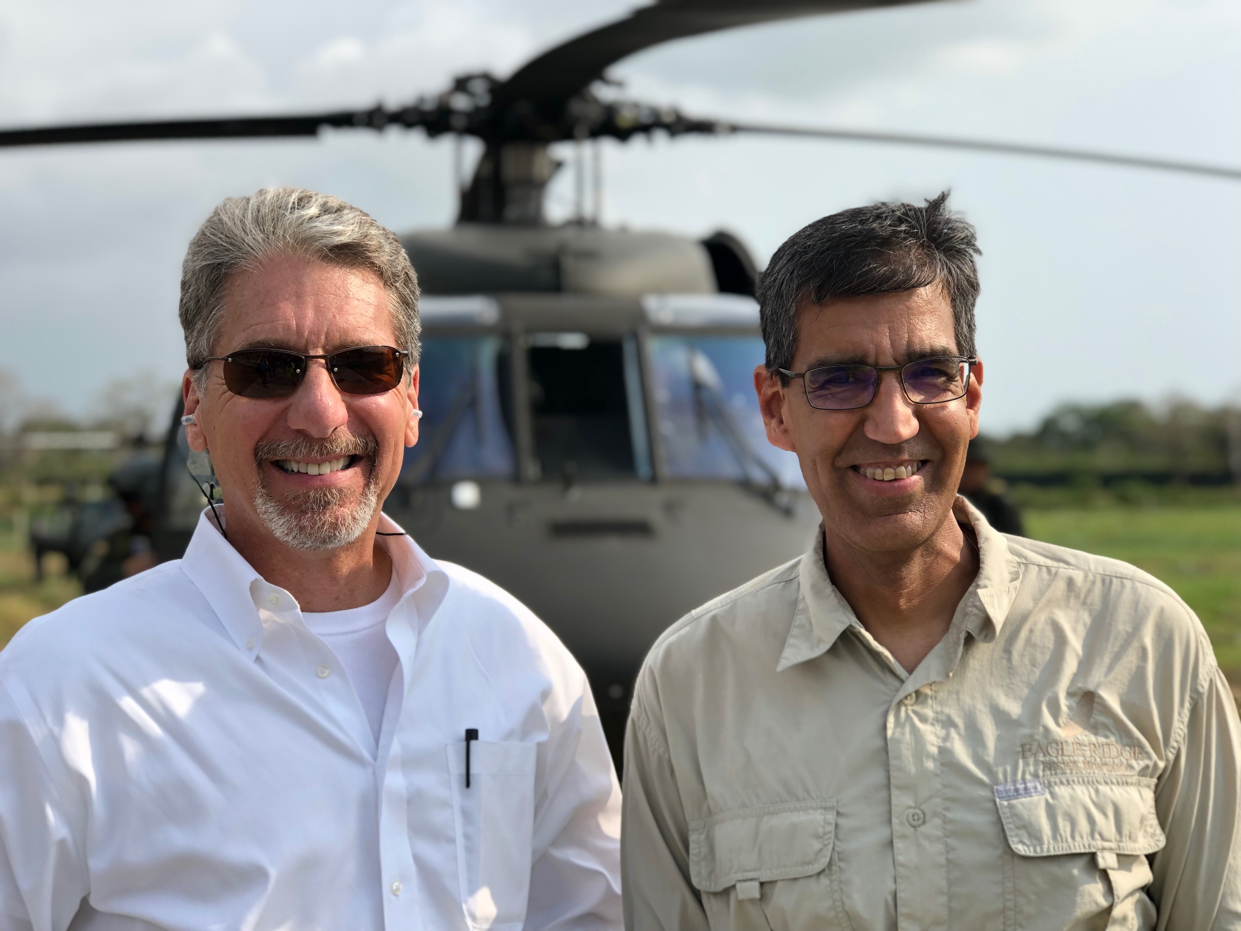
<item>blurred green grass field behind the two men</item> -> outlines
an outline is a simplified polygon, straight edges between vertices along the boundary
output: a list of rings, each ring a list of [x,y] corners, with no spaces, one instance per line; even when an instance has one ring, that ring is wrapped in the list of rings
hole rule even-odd
[[[1035,539],[1132,562],[1170,585],[1198,612],[1220,665],[1241,685],[1241,504],[1030,509],[1025,520]],[[0,645],[79,592],[76,580],[58,572],[35,582],[22,542],[0,536]]]

